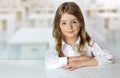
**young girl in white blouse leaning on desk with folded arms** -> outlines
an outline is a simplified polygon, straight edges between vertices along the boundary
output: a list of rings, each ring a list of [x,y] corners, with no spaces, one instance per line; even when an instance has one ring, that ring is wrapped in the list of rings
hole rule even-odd
[[[74,70],[80,67],[107,65],[113,57],[93,42],[85,30],[79,6],[65,2],[59,6],[54,18],[54,41],[45,54],[48,68]]]

